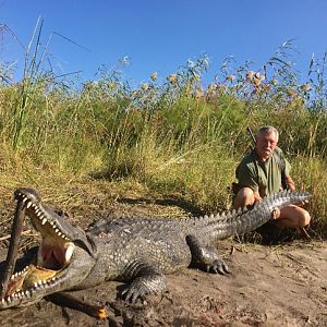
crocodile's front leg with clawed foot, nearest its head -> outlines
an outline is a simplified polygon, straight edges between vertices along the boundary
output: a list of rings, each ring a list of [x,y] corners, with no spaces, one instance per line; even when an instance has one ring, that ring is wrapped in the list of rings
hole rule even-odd
[[[133,262],[125,271],[125,277],[132,282],[122,291],[125,301],[135,303],[138,299],[144,301],[150,293],[159,293],[166,289],[165,276],[148,263]]]

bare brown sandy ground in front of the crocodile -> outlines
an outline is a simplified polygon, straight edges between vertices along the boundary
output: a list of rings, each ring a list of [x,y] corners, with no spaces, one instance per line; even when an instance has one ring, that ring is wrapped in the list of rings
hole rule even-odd
[[[134,211],[144,213],[140,207]],[[8,229],[0,238],[4,234]],[[7,246],[0,241],[0,261]],[[217,246],[230,267],[227,276],[185,268],[167,276],[165,293],[135,305],[119,299],[122,283],[107,282],[74,292],[104,305],[106,319],[43,300],[1,311],[1,326],[327,326],[326,242],[272,246],[225,240]]]

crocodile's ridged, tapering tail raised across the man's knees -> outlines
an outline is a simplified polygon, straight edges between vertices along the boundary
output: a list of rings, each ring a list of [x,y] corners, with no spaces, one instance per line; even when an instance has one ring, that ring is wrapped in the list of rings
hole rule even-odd
[[[216,216],[205,216],[202,218],[202,226],[205,226],[204,232],[214,240],[221,240],[237,234],[242,235],[267,222],[271,218],[275,208],[281,209],[310,197],[311,194],[307,192],[281,191],[265,197],[251,210],[232,210]]]

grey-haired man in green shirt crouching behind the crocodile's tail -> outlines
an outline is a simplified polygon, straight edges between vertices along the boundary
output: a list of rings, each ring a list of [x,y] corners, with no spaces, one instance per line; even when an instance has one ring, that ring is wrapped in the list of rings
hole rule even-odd
[[[282,189],[295,190],[290,177],[290,164],[277,146],[278,131],[272,126],[262,126],[256,135],[255,149],[245,156],[237,168],[239,192],[234,208],[252,206],[263,197]],[[282,171],[283,170],[283,171]],[[271,219],[282,228],[300,228],[303,237],[308,238],[304,227],[308,226],[310,214],[295,205],[276,209]]]

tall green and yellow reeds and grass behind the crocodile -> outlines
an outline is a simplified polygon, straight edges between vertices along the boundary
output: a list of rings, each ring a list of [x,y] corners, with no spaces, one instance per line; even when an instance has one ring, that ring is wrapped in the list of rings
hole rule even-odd
[[[27,47],[21,82],[10,83],[12,66],[0,63],[2,185],[129,181],[153,196],[222,209],[234,169],[253,146],[246,128],[272,124],[298,187],[314,194],[313,227],[326,235],[326,56],[312,58],[301,82],[286,43],[258,70],[249,62],[234,68],[228,58],[207,86],[209,61],[201,56],[161,82],[153,73],[138,88],[105,68],[78,88],[43,69],[40,32]]]

